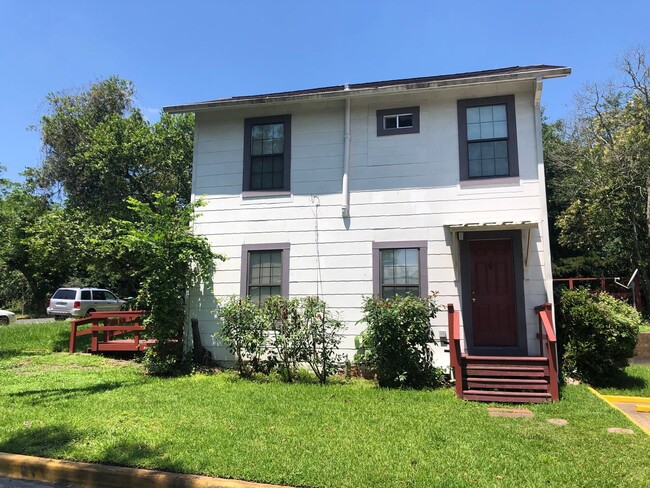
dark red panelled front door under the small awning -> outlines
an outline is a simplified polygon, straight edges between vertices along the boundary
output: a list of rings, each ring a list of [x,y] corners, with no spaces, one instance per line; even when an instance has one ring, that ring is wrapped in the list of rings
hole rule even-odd
[[[517,346],[512,239],[471,240],[469,265],[473,345]]]

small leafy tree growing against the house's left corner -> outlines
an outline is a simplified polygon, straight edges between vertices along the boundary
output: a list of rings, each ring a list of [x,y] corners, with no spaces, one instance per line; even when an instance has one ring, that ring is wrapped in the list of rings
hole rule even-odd
[[[136,219],[115,221],[119,234],[113,248],[128,254],[142,276],[138,306],[149,311],[145,325],[157,340],[147,353],[151,373],[169,374],[182,360],[186,293],[201,283],[208,286],[215,260],[223,259],[192,232],[189,223],[199,205],[161,193],[152,196],[151,204],[129,198]]]

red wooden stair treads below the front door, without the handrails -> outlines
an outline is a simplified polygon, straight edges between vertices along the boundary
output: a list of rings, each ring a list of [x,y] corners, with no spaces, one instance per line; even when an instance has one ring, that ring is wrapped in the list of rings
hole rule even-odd
[[[508,403],[551,401],[549,365],[545,357],[461,355],[462,398]],[[459,379],[457,378],[457,381]]]

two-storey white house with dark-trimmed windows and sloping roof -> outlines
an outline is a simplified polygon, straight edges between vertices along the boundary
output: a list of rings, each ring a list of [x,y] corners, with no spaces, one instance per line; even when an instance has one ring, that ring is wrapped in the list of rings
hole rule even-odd
[[[362,298],[437,291],[466,356],[540,356],[552,300],[540,98],[563,66],[516,66],[166,107],[196,114],[195,223],[228,256],[191,296],[216,359],[215,298],[319,295],[347,322]],[[446,335],[447,314],[436,319]],[[449,364],[440,347],[437,361]]]

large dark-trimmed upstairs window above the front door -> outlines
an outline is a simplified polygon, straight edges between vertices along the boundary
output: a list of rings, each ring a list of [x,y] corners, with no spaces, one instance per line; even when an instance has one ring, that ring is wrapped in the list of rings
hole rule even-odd
[[[519,176],[515,97],[458,101],[460,179]]]

